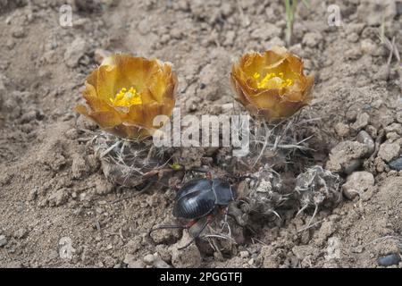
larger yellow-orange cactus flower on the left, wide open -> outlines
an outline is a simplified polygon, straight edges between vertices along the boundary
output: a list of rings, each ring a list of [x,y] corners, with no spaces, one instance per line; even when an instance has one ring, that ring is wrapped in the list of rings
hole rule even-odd
[[[85,87],[89,108],[78,105],[80,114],[121,138],[144,139],[156,115],[172,115],[177,77],[171,63],[119,54],[106,57]]]

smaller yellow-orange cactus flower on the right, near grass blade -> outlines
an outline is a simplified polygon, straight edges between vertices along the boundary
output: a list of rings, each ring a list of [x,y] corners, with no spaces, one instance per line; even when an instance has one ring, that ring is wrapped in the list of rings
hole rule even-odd
[[[283,46],[241,56],[230,80],[236,99],[268,122],[288,118],[307,105],[314,85],[314,75],[305,76],[302,60]]]

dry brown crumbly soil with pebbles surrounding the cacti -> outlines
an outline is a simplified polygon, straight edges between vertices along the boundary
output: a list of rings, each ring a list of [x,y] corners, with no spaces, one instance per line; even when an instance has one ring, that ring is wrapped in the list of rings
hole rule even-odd
[[[315,72],[314,101],[301,112],[314,119],[307,133],[315,152],[298,172],[314,164],[339,172],[344,198],[320,207],[307,231],[299,230],[312,209],[259,222],[222,256],[195,245],[178,251],[180,231],[150,243],[147,231],[172,221],[172,190],[127,198],[134,190],[106,181],[88,147],[96,125],[73,108],[110,51],[172,62],[177,105],[221,114],[233,102],[231,61],[284,45],[282,2],[76,1],[72,27],[62,27],[63,1],[0,0],[0,267],[377,267],[389,255],[400,267],[401,69],[396,56],[387,65],[378,35],[383,22],[402,51],[402,3],[333,3],[339,27],[328,24],[330,1],[298,7],[289,50]],[[369,143],[357,142],[361,130]]]

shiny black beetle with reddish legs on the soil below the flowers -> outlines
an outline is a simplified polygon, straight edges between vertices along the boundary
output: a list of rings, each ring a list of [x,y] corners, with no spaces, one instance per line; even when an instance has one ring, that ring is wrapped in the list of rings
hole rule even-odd
[[[176,195],[173,216],[190,220],[190,222],[186,225],[161,225],[149,231],[149,234],[160,229],[189,229],[199,219],[207,216],[205,223],[197,231],[193,240],[180,249],[187,248],[205,230],[208,223],[211,223],[214,210],[226,208],[235,197],[235,190],[222,179],[208,178],[188,181]]]

